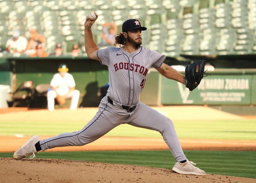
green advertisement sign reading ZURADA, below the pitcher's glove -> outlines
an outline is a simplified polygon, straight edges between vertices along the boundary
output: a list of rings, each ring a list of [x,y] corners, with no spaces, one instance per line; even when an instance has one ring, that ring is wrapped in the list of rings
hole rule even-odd
[[[164,78],[162,104],[250,104],[251,86],[252,75],[213,75],[189,92],[185,85]]]

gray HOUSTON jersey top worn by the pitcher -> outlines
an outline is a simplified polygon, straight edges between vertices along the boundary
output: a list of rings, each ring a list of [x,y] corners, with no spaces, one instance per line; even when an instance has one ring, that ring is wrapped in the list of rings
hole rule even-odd
[[[98,50],[101,64],[109,70],[108,96],[124,105],[136,105],[151,66],[160,67],[165,56],[144,47],[129,53],[121,48]]]

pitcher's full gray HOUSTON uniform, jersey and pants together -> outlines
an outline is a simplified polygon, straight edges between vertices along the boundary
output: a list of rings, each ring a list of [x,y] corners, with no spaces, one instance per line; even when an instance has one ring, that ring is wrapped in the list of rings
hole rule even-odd
[[[97,140],[120,124],[147,128],[162,134],[176,161],[186,160],[172,120],[139,101],[148,70],[157,68],[165,56],[140,47],[128,53],[122,47],[98,50],[101,64],[109,70],[109,89],[99,111],[83,129],[40,141],[42,151],[55,147],[82,146]]]

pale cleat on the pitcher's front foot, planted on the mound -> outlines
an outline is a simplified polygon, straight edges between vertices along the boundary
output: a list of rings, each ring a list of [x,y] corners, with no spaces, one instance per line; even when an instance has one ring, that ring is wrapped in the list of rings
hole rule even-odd
[[[188,161],[185,163],[176,162],[172,170],[181,174],[205,175],[205,172],[197,167],[195,163]]]

